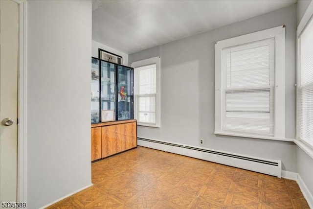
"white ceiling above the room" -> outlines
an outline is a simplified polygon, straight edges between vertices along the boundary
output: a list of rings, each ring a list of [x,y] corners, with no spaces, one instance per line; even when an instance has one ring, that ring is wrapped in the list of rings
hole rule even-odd
[[[131,54],[297,0],[93,0],[92,40]]]

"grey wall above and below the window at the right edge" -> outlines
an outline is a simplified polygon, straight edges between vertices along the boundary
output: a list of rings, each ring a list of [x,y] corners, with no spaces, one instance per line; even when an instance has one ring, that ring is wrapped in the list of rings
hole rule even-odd
[[[298,23],[300,23],[304,13],[306,12],[308,6],[312,4],[312,0],[298,0],[297,13],[298,13]],[[300,147],[297,149],[298,155],[298,174],[307,186],[309,192],[311,193],[311,201],[313,201],[313,159]],[[311,203],[313,204],[313,202]]]

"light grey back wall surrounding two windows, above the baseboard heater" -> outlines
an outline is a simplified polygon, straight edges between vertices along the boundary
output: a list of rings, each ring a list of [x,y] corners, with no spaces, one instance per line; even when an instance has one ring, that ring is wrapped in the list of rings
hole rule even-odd
[[[214,135],[214,42],[286,25],[286,138],[295,137],[296,5],[129,55],[161,57],[161,128],[138,127],[138,137],[281,160],[297,172],[293,142]],[[204,145],[200,145],[200,138]]]

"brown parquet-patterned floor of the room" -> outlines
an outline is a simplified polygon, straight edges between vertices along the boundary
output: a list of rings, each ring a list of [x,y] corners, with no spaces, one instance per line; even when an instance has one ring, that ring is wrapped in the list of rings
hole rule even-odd
[[[309,209],[295,181],[145,147],[92,163],[92,183],[48,209]]]

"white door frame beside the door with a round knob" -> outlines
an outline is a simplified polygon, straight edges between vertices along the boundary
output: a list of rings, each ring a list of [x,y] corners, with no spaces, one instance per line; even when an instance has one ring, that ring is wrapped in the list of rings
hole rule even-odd
[[[17,202],[27,203],[27,1],[19,8]]]

